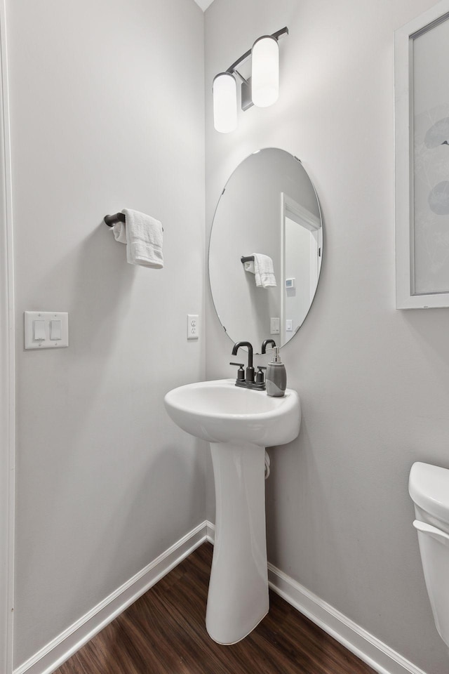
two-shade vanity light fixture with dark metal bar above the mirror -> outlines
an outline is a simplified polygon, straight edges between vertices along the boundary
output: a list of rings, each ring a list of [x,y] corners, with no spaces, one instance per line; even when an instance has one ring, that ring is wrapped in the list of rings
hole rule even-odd
[[[241,80],[241,109],[252,105],[268,107],[279,98],[279,44],[281,35],[288,35],[288,28],[281,28],[272,35],[257,38],[253,48],[237,59],[225,72],[213,79],[213,125],[220,133],[229,133],[237,127],[237,82]],[[237,70],[251,57],[251,76],[245,79]]]

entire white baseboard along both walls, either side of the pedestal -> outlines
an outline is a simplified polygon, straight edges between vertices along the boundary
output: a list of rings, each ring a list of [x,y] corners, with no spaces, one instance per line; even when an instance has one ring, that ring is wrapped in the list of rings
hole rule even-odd
[[[201,543],[213,543],[214,538],[215,525],[205,520],[15,669],[14,674],[51,674]],[[268,564],[268,579],[274,592],[379,674],[426,674],[273,564]]]

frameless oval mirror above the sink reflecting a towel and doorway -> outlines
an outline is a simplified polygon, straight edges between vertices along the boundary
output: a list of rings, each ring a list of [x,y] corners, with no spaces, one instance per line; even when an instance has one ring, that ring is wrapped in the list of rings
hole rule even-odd
[[[286,344],[314,300],[322,255],[319,202],[299,159],[272,147],[250,154],[227,181],[210,232],[210,290],[232,341],[255,352],[267,338]]]

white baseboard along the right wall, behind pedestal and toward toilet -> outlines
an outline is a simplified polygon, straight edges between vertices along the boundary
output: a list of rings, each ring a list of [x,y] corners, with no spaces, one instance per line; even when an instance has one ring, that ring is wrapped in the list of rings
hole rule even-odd
[[[213,543],[215,525],[206,521],[206,529],[208,541]],[[427,674],[273,564],[268,564],[268,582],[270,588],[288,604],[379,674]]]

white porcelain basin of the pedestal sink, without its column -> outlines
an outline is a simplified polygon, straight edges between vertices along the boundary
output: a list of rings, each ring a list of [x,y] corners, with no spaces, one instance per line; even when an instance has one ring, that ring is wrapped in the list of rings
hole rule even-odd
[[[168,414],[182,430],[208,442],[252,442],[260,447],[286,444],[300,432],[296,391],[270,397],[239,388],[234,379],[180,386],[165,397]]]

